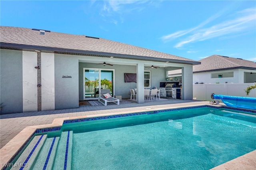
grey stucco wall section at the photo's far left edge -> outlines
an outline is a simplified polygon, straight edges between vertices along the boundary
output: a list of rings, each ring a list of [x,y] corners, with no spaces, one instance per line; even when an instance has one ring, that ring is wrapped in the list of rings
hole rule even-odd
[[[22,112],[22,51],[0,49],[0,79],[1,114]]]

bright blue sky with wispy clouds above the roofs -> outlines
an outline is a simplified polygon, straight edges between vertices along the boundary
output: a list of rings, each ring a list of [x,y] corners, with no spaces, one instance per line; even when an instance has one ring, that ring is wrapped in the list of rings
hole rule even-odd
[[[196,61],[256,61],[256,1],[3,1],[1,26],[105,38]]]

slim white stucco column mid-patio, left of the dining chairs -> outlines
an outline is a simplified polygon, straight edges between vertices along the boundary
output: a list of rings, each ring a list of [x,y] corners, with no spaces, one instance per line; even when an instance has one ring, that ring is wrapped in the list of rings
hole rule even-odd
[[[137,64],[137,103],[144,103],[144,63]]]

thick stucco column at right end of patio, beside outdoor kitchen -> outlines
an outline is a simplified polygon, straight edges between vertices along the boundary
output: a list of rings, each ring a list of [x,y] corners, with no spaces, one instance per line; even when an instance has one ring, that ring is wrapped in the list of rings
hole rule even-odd
[[[193,99],[193,65],[182,67],[182,99]]]

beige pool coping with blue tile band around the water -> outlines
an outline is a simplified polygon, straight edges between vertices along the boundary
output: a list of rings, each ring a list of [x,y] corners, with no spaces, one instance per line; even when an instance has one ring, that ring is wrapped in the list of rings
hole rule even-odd
[[[171,111],[171,110],[183,110],[183,109],[191,109],[191,108],[199,108],[199,107],[212,107],[212,108],[225,108],[225,109],[233,109],[238,111],[251,111],[256,113],[254,110],[250,109],[236,109],[232,107],[226,107],[224,105],[209,105],[209,104],[197,104],[197,105],[188,105],[188,106],[173,106],[173,107],[163,107],[161,109],[155,108],[145,108],[141,109],[140,112],[138,111],[123,111],[120,112],[113,112],[113,113],[106,113],[106,114],[98,114],[98,115],[84,115],[78,117],[65,117],[65,118],[57,118],[51,124],[46,125],[36,125],[36,126],[29,126],[24,128],[20,133],[18,133],[12,140],[10,140],[5,146],[0,149],[0,162],[2,169],[6,169],[3,165],[8,165],[12,162],[12,160],[18,155],[20,150],[29,142],[30,138],[34,136],[36,133],[41,132],[49,132],[60,130],[63,124],[65,123],[75,123],[80,121],[92,121],[92,120],[99,120],[99,119],[111,119],[114,117],[126,117],[126,116],[134,116],[134,115],[144,115],[144,114],[156,114],[163,111]],[[135,114],[136,113],[136,114]],[[120,116],[124,115],[124,116]],[[98,119],[95,119],[98,118]],[[91,119],[91,120],[90,120]],[[77,121],[76,121],[77,120]],[[69,121],[69,122],[68,122]],[[249,152],[243,156],[235,158],[234,160],[230,160],[224,164],[221,164],[217,167],[212,168],[212,170],[217,169],[241,169],[241,167],[246,169],[256,169],[256,160],[251,159],[251,157],[256,156],[256,150]],[[240,167],[240,168],[239,168]]]

